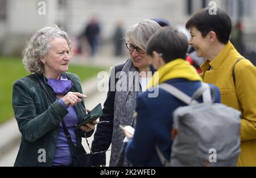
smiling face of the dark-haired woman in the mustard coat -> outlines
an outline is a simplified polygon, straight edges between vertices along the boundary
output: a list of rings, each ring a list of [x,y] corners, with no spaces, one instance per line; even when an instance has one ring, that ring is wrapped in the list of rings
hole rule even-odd
[[[190,27],[191,39],[189,45],[192,45],[198,57],[208,58],[210,52],[210,45],[208,35],[203,37],[201,32],[196,27]]]

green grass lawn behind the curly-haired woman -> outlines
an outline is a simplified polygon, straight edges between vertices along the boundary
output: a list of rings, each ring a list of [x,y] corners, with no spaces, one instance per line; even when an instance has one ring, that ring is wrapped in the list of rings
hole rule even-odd
[[[82,81],[97,75],[102,67],[73,66],[69,65],[69,72],[79,75]],[[14,117],[11,105],[13,83],[15,80],[28,75],[20,58],[0,57],[0,124]]]

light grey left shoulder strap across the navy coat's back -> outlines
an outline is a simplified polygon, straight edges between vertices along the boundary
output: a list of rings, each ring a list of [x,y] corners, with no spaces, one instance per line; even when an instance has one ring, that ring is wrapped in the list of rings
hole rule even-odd
[[[196,100],[192,101],[192,98],[190,96],[188,96],[187,94],[184,94],[184,92],[180,91],[179,89],[172,86],[171,84],[161,83],[159,84],[159,88],[162,88],[164,91],[167,91],[168,93],[175,96],[177,99],[180,99],[186,104],[198,103]]]

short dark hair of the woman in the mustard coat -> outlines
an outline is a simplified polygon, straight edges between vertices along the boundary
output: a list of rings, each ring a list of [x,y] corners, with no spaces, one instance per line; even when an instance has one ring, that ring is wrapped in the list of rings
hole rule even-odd
[[[232,24],[231,20],[222,9],[217,9],[216,14],[210,15],[209,7],[200,9],[186,23],[186,28],[196,27],[203,37],[207,36],[210,31],[214,31],[218,40],[227,44],[229,41]]]

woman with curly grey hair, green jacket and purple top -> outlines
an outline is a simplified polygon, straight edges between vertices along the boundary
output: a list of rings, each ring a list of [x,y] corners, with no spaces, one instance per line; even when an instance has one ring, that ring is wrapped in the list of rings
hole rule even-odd
[[[56,25],[36,31],[24,48],[23,63],[31,74],[13,86],[13,109],[22,134],[14,166],[74,166],[64,129],[76,146],[81,146],[81,137],[93,134],[97,121],[74,127],[86,115],[86,96],[79,77],[67,73],[72,52],[67,33]]]

